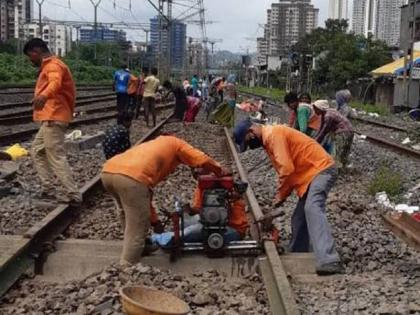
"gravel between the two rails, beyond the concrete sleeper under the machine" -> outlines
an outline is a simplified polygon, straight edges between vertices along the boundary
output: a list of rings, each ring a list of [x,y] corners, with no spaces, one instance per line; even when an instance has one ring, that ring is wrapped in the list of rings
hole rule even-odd
[[[193,146],[203,150],[217,161],[231,167],[223,142],[214,142],[215,138],[224,137],[223,129],[214,125],[170,123],[162,130],[185,139]],[[173,174],[154,189],[153,203],[159,210],[172,210],[175,198],[189,202],[196,188],[189,167],[179,166]],[[89,201],[81,216],[66,231],[69,238],[119,240],[123,238],[119,216],[112,198],[107,193],[98,194]],[[162,218],[165,219],[165,218]]]

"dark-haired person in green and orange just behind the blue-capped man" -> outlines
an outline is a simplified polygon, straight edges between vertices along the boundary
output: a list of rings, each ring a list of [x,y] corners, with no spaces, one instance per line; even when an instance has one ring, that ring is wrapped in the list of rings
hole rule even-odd
[[[286,94],[284,102],[290,109],[289,127],[295,128],[300,132],[314,137],[321,126],[321,117],[315,114],[310,103],[309,94],[304,94],[299,98],[294,92]]]

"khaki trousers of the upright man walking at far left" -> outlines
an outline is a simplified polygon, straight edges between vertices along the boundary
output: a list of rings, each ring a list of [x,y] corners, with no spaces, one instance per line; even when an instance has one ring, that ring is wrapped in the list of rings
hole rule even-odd
[[[52,186],[54,174],[75,200],[81,200],[81,194],[71,175],[64,145],[67,123],[44,121],[32,142],[31,156],[35,169],[45,189]]]

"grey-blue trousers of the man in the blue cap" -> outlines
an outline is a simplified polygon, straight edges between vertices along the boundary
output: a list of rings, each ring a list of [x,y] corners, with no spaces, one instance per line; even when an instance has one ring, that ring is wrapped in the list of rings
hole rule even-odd
[[[309,252],[312,244],[318,266],[340,261],[325,213],[328,193],[336,180],[335,166],[318,174],[292,216],[290,251]]]

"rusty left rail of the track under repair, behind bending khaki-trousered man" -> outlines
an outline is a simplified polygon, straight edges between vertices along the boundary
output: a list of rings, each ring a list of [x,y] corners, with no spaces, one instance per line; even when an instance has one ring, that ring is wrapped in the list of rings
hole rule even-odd
[[[172,116],[173,114],[162,120],[137,143],[152,139]],[[83,199],[86,200],[96,189],[100,188],[101,177],[98,174],[87,182],[80,192]],[[75,209],[69,205],[59,205],[24,233],[13,253],[0,259],[0,296],[6,293],[25,271],[37,268],[37,258],[42,255],[44,245],[54,241],[57,236],[63,233],[76,215]]]

